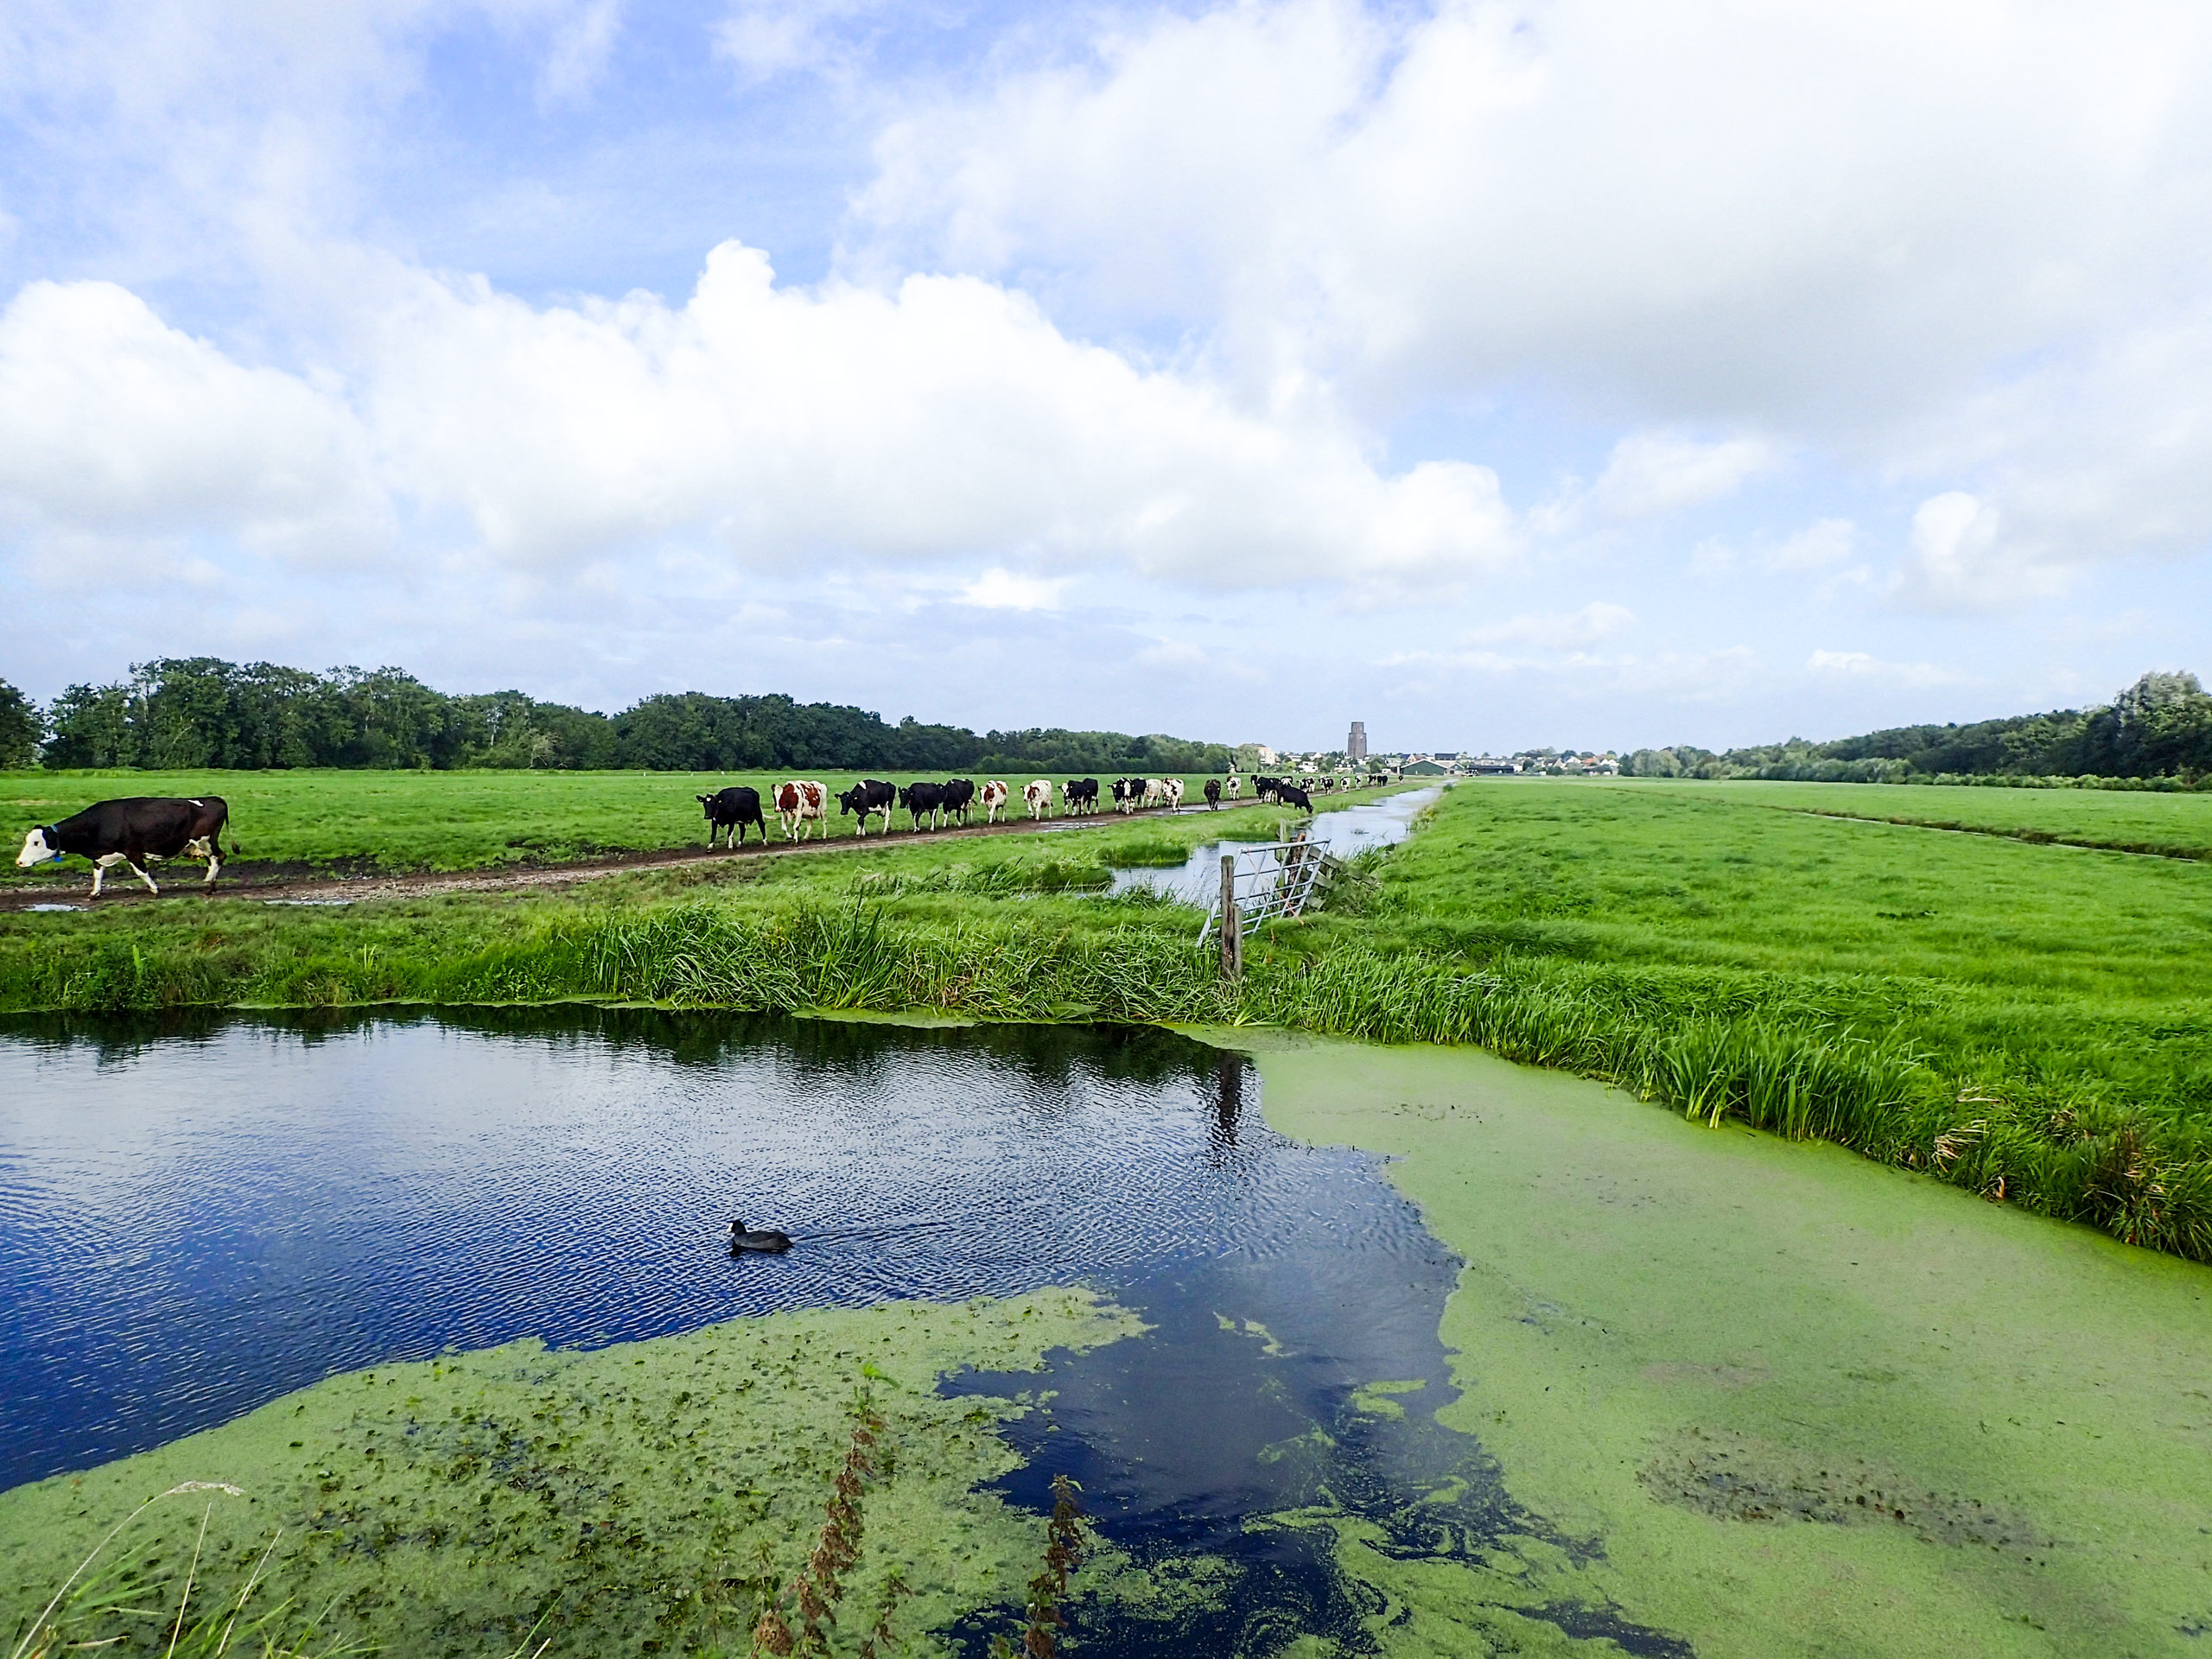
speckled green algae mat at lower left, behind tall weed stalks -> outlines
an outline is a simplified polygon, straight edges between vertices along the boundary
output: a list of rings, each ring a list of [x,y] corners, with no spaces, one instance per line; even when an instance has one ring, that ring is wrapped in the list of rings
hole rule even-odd
[[[1015,1464],[998,1427],[1026,1402],[942,1398],[936,1378],[1033,1369],[1048,1349],[1139,1329],[1088,1292],[1042,1290],[737,1318],[595,1352],[524,1340],[336,1376],[221,1429],[0,1493],[0,1632],[13,1646],[142,1500],[221,1480],[246,1495],[219,1498],[197,1546],[204,1606],[237,1595],[283,1528],[261,1597],[330,1606],[325,1635],[383,1652],[498,1655],[524,1637],[551,1637],[553,1655],[741,1652],[761,1595],[790,1582],[821,1526],[865,1389],[887,1431],[847,1601],[878,1606],[896,1571],[914,1593],[898,1628],[920,1637],[1015,1601],[1042,1548],[1042,1520],[978,1491]],[[146,1577],[177,1577],[199,1520],[197,1506],[157,1506],[119,1548],[148,1551]],[[146,1621],[73,1635],[124,1635],[108,1652],[153,1639]]]

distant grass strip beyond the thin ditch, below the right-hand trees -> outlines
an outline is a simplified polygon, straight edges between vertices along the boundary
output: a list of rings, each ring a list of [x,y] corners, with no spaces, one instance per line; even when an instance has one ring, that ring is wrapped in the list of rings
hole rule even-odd
[[[1887,818],[2073,847],[2212,858],[2212,794],[2137,790],[1984,790],[1909,783],[1694,783],[1624,779],[1606,787],[1754,801],[1787,812]]]

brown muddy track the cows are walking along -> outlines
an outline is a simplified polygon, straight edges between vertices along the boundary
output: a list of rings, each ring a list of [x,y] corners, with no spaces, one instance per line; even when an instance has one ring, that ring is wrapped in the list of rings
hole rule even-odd
[[[1234,805],[1223,805],[1221,812],[1250,812],[1252,807],[1263,807],[1261,801],[1239,801]],[[1267,812],[1281,812],[1281,807],[1265,807]],[[1194,812],[1206,812],[1199,807],[1181,807],[1181,812],[1170,814],[1166,807],[1152,807],[1150,812],[1117,814],[1110,807],[1097,816],[1084,818],[1048,818],[1046,823],[1031,823],[1020,818],[1013,823],[971,823],[958,830],[925,830],[920,834],[909,830],[894,830],[891,834],[841,836],[836,841],[750,841],[737,852],[706,847],[664,847],[659,852],[626,852],[606,858],[580,858],[568,865],[509,865],[504,869],[449,869],[449,872],[422,872],[422,874],[301,874],[296,869],[263,872],[254,869],[252,863],[239,860],[237,865],[226,865],[223,876],[215,887],[201,887],[195,874],[199,865],[175,860],[166,865],[164,872],[155,869],[155,880],[161,883],[159,900],[148,894],[137,876],[128,869],[122,872],[117,880],[115,869],[108,872],[106,885],[100,889],[100,898],[91,898],[91,878],[77,880],[27,880],[9,883],[0,887],[0,911],[22,911],[33,905],[69,905],[73,909],[108,909],[111,905],[155,905],[177,898],[199,898],[199,900],[237,900],[252,898],[270,905],[358,905],[374,900],[394,898],[429,898],[436,894],[531,894],[531,891],[553,891],[562,887],[575,887],[586,880],[599,880],[602,876],[624,876],[637,869],[686,869],[695,865],[732,865],[739,858],[801,858],[810,854],[830,852],[867,852],[874,847],[911,847],[911,845],[933,845],[940,841],[973,841],[980,836],[1057,836],[1077,834],[1082,830],[1099,830],[1115,823],[1128,823],[1130,818],[1166,818],[1179,816],[1188,818]],[[117,867],[119,869],[119,867]],[[239,872],[239,874],[232,874]],[[128,885],[126,885],[128,883]]]

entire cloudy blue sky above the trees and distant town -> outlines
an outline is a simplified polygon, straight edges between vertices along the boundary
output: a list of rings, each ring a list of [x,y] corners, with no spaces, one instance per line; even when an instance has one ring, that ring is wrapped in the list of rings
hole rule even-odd
[[[2212,9],[9,0],[0,677],[1376,750],[2212,672]]]

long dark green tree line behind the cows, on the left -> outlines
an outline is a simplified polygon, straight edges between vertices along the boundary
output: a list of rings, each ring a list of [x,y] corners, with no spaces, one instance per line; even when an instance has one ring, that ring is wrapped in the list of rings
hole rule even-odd
[[[518,690],[453,697],[403,668],[310,672],[219,657],[135,664],[40,708],[0,681],[0,765],[646,772],[1223,772],[1230,750],[1126,732],[971,732],[845,703],[661,692],[619,714]]]

